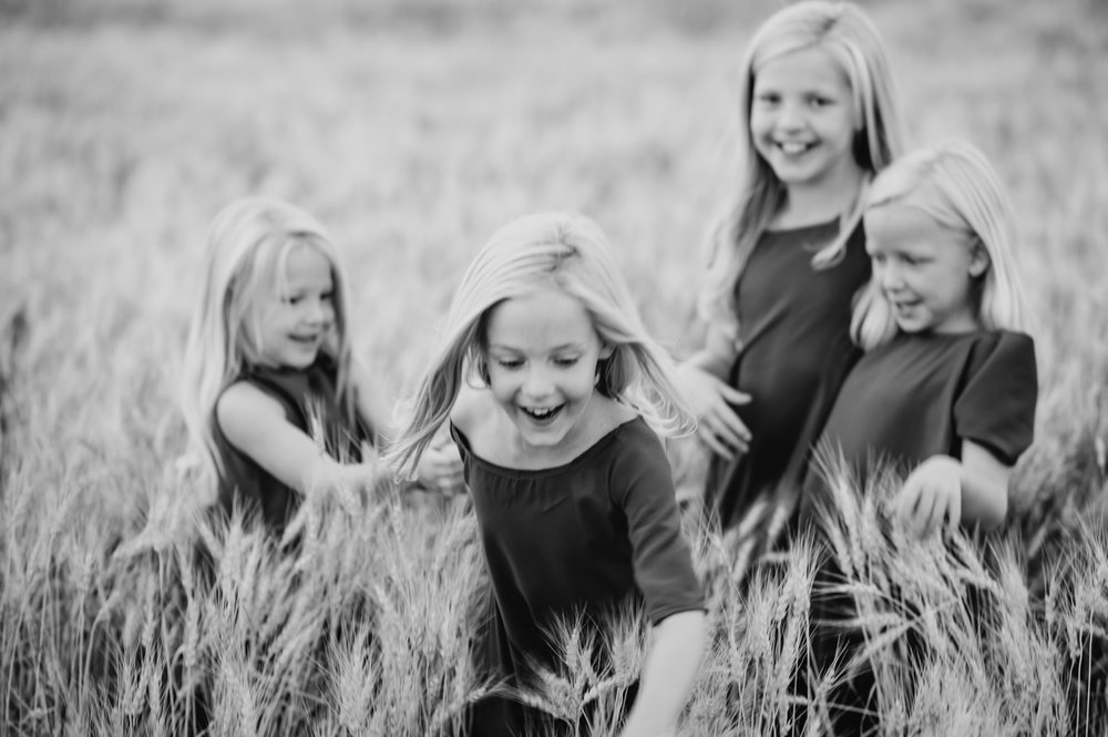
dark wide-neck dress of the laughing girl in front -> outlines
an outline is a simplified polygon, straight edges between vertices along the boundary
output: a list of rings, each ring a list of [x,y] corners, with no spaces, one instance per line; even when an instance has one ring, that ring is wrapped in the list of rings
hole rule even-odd
[[[642,418],[625,422],[571,462],[517,470],[475,455],[455,427],[494,595],[486,652],[491,675],[527,685],[531,661],[556,665],[546,628],[558,617],[601,626],[628,601],[650,623],[700,610],[661,442]],[[472,735],[520,734],[538,716],[506,699],[475,713]]]

